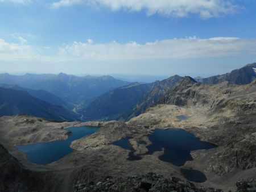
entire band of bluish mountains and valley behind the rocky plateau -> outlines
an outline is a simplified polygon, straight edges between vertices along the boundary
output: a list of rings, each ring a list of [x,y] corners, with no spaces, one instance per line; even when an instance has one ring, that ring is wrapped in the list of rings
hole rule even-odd
[[[0,74],[0,116],[24,113],[56,120],[129,120],[158,103],[183,105],[183,99],[174,95],[196,81],[242,85],[255,78],[256,63],[208,78],[176,75],[150,84],[130,84],[111,76],[4,73]]]

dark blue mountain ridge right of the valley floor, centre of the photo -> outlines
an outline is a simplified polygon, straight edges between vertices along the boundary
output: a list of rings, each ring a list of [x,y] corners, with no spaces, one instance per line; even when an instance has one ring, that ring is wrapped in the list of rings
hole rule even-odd
[[[129,119],[154,105],[180,79],[176,75],[151,84],[130,84],[108,91],[81,110],[81,113],[86,119]]]

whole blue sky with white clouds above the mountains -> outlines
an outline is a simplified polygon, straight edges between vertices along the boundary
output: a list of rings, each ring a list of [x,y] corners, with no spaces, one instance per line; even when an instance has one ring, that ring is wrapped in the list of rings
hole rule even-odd
[[[255,0],[0,0],[0,73],[208,77],[251,62]]]

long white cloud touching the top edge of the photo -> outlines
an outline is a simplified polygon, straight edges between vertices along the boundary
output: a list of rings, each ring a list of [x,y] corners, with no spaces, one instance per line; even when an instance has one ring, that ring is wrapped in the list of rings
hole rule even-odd
[[[59,0],[51,4],[53,8],[73,6],[77,4],[102,5],[112,10],[126,9],[129,11],[146,10],[148,15],[186,17],[191,14],[202,18],[218,17],[232,14],[238,9],[232,0]]]

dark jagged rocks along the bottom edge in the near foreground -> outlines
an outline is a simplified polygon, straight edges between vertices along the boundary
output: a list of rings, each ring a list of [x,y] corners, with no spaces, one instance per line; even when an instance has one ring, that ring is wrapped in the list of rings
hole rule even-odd
[[[236,192],[256,191],[256,180],[241,180],[236,182]],[[196,187],[194,183],[181,180],[177,177],[164,178],[155,173],[147,173],[144,176],[131,176],[127,178],[106,177],[103,182],[80,183],[76,185],[77,192],[98,191],[127,191],[127,192],[223,192],[221,189],[203,186]]]

